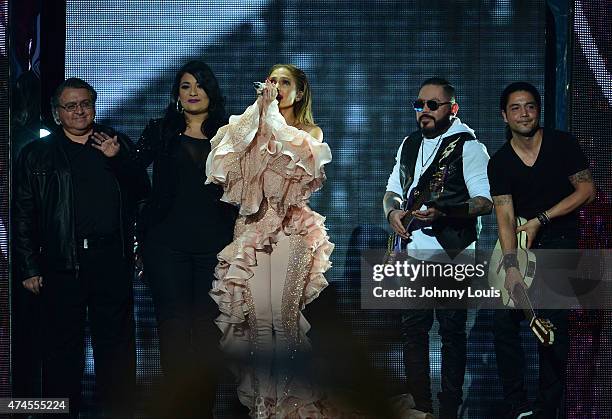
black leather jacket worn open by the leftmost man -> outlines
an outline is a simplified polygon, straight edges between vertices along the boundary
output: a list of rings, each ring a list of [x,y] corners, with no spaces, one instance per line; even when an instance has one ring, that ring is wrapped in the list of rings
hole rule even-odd
[[[95,125],[97,132],[115,135]],[[135,160],[130,139],[117,134],[120,151],[109,160],[120,194],[121,238],[125,255],[133,251],[134,217],[150,191],[146,171]],[[78,270],[73,186],[61,129],[26,145],[17,159],[13,187],[13,261],[17,277],[46,269]]]

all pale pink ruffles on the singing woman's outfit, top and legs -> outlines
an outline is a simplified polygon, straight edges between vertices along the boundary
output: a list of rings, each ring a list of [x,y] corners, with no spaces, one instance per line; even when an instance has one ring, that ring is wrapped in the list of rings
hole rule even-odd
[[[323,166],[331,161],[329,146],[288,126],[277,102],[264,112],[260,112],[256,102],[219,129],[211,140],[211,148],[206,162],[206,182],[223,185],[221,199],[240,206],[234,241],[217,256],[216,280],[210,291],[220,311],[215,322],[223,333],[221,348],[242,360],[252,354],[249,314],[254,308],[249,281],[258,279],[254,278],[253,271],[257,252],[271,252],[283,236],[299,236],[300,249],[304,249],[300,254],[306,252],[309,263],[301,282],[300,312],[291,323],[297,323],[295,335],[299,347],[296,349],[308,350],[306,334],[310,324],[301,309],[328,285],[324,273],[331,267],[334,245],[329,241],[325,218],[307,204],[325,180]],[[254,371],[233,367],[239,378],[240,401],[253,408]],[[317,395],[312,389],[296,383],[292,391],[296,396],[292,399],[299,401],[302,411],[308,405],[314,406]],[[273,401],[275,406],[286,404],[286,397],[280,394],[278,397],[279,400]],[[292,417],[302,416],[292,414]]]

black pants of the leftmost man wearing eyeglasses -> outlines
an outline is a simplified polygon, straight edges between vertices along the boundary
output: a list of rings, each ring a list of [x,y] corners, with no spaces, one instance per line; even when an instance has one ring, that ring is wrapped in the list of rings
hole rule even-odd
[[[43,397],[70,398],[70,415],[78,417],[88,318],[99,416],[131,417],[136,379],[132,265],[119,241],[81,250],[79,262],[78,272],[43,275]]]

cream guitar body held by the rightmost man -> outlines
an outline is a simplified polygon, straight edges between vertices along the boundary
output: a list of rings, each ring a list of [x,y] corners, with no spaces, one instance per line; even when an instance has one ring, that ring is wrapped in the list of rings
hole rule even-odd
[[[517,227],[525,223],[527,223],[527,220],[522,217],[518,217],[516,219]],[[521,273],[525,284],[527,284],[527,289],[529,289],[531,287],[531,283],[533,282],[533,278],[535,277],[536,257],[531,250],[527,249],[527,233],[524,231],[517,233],[516,240],[516,257],[519,262],[519,272]],[[501,292],[502,303],[506,307],[514,308],[514,301],[512,298],[510,298],[508,290],[506,290],[504,287],[504,283],[506,282],[506,270],[503,266],[503,259],[504,255],[502,253],[501,243],[499,240],[497,240],[495,250],[489,264],[489,285],[495,287]]]

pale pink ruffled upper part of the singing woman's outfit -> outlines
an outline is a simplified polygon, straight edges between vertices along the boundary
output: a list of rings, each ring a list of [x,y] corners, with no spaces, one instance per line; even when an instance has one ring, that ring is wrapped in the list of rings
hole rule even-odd
[[[275,206],[305,205],[323,184],[323,166],[331,161],[329,146],[288,126],[276,101],[264,120],[259,114],[255,103],[230,117],[211,140],[206,161],[206,183],[223,185],[221,200],[239,205],[245,216],[259,211],[264,196]]]

